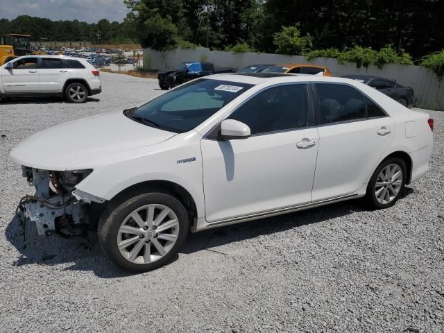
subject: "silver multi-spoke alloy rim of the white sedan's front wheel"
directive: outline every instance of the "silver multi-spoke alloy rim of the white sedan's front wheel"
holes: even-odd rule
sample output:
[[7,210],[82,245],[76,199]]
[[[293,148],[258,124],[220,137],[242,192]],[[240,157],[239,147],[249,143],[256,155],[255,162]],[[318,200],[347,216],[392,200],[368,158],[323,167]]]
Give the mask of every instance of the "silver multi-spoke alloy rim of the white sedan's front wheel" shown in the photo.
[[121,223],[117,246],[133,264],[149,264],[167,255],[178,239],[179,220],[171,208],[151,204],[137,208]]

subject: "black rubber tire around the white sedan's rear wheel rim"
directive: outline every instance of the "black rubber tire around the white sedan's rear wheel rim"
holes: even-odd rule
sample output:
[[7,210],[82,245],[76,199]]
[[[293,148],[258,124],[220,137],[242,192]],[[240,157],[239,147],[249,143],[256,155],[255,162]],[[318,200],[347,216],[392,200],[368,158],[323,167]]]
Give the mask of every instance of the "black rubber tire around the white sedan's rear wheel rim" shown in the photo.
[[[400,185],[398,194],[396,194],[393,199],[391,199],[389,202],[381,203],[379,202],[376,196],[376,191],[377,191],[376,182],[381,171],[391,164],[395,164],[398,165],[398,167],[400,167],[402,171],[402,183]],[[379,166],[376,168],[375,172],[373,173],[373,176],[370,178],[370,182],[368,182],[367,192],[365,196],[368,207],[374,210],[382,210],[384,208],[388,208],[395,205],[396,201],[398,201],[398,199],[400,198],[402,191],[404,191],[404,186],[406,184],[406,181],[407,181],[407,167],[405,165],[404,160],[402,160],[400,157],[389,157],[388,159],[382,161],[381,164],[379,164]],[[387,186],[389,187],[389,185]],[[380,189],[381,187],[382,186],[378,187],[378,189]],[[384,189],[382,191],[384,191]],[[387,187],[386,191],[388,191]],[[390,196],[390,193],[388,194],[388,196]]]

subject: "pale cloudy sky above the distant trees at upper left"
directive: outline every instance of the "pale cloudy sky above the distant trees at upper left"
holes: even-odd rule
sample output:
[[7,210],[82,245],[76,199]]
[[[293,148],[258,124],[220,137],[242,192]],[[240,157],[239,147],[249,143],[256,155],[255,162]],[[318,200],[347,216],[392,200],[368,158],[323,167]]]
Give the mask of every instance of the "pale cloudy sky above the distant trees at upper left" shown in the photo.
[[123,0],[0,0],[0,19],[30,15],[54,21],[78,19],[94,23],[109,19],[122,22],[127,12]]

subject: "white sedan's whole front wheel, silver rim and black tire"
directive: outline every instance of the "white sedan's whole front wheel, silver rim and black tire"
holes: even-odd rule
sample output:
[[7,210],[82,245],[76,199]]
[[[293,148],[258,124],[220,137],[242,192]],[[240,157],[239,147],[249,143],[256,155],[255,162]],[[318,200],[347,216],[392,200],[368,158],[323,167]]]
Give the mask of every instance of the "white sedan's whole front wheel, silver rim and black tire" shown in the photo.
[[[122,202],[123,201],[123,202]],[[165,193],[128,196],[110,204],[99,222],[105,255],[126,271],[144,272],[167,264],[188,233],[188,216],[180,201]]]

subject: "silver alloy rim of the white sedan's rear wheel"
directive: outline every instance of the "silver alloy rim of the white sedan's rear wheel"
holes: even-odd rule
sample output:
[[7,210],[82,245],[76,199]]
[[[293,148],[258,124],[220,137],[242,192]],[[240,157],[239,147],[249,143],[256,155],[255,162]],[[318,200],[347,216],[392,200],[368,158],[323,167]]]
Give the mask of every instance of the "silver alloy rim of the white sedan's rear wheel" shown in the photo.
[[402,187],[402,169],[398,164],[388,164],[381,170],[375,183],[375,197],[378,203],[391,203]]

